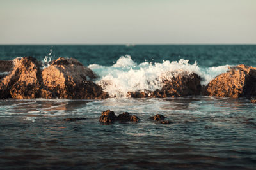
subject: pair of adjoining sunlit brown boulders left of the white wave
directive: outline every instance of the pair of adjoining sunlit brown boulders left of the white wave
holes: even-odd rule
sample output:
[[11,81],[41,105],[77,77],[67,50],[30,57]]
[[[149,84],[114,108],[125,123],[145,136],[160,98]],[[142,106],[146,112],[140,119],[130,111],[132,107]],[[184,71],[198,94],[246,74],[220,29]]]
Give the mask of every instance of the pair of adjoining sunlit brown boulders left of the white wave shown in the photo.
[[[33,57],[19,57],[10,61],[7,76],[0,79],[0,99],[65,98],[105,99],[108,94],[90,79],[92,70],[76,59],[58,58],[44,70],[42,63]],[[1,63],[0,63],[1,64]]]

